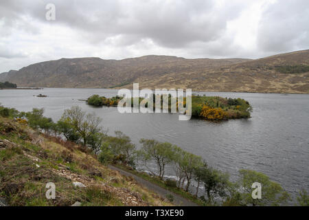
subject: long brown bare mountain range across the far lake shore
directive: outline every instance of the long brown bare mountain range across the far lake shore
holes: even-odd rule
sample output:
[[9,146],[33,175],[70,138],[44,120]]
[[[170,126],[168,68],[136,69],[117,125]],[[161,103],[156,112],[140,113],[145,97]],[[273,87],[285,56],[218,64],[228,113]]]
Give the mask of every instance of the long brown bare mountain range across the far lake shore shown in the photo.
[[19,87],[132,89],[191,88],[194,91],[309,93],[309,50],[260,58],[186,59],[141,56],[124,60],[61,58],[0,74]]

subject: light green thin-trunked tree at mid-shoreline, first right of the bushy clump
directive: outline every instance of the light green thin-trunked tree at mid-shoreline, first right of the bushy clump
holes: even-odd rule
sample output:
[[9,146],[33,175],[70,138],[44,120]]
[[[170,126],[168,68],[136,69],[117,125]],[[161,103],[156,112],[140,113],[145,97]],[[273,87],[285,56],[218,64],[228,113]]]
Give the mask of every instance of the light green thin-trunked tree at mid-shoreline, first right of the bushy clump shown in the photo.
[[139,141],[143,146],[138,151],[139,159],[144,162],[144,165],[148,167],[150,160],[155,161],[157,164],[157,174],[150,172],[154,175],[158,175],[160,179],[163,179],[165,173],[165,166],[172,162],[172,144],[165,142],[157,142],[156,140],[141,139]]

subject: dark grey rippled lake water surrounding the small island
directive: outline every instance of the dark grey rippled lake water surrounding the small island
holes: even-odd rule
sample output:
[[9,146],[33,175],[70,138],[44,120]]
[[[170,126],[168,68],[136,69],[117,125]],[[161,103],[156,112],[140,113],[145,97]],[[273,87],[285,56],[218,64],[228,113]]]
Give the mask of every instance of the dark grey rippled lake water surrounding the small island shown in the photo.
[[[48,97],[34,97],[40,93]],[[171,113],[121,114],[115,107],[93,108],[78,100],[93,94],[111,97],[117,90],[0,90],[0,102],[19,111],[44,107],[45,115],[54,120],[64,109],[79,105],[84,111],[95,111],[109,134],[122,131],[137,146],[140,138],[155,138],[201,155],[209,165],[228,171],[233,180],[239,169],[246,168],[265,173],[294,197],[301,188],[309,190],[309,95],[194,92],[244,98],[253,106],[250,119],[214,123],[179,121]]]

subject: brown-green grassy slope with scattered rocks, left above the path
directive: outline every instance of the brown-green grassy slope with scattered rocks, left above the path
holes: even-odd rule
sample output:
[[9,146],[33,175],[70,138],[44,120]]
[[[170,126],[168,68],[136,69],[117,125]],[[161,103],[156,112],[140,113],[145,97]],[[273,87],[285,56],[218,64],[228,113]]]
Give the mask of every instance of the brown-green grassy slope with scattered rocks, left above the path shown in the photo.
[[[46,184],[56,199],[45,197]],[[76,187],[79,182],[86,187]],[[82,148],[0,117],[0,199],[9,206],[170,206]]]

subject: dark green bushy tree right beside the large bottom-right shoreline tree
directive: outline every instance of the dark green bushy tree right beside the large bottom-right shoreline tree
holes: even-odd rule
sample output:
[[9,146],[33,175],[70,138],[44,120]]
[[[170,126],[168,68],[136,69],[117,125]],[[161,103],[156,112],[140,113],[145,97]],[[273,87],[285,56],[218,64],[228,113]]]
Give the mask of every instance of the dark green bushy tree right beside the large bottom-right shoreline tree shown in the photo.
[[229,186],[229,175],[222,173],[220,170],[214,168],[203,168],[201,173],[201,181],[207,193],[208,202],[213,201],[215,195],[225,196],[227,186]]

